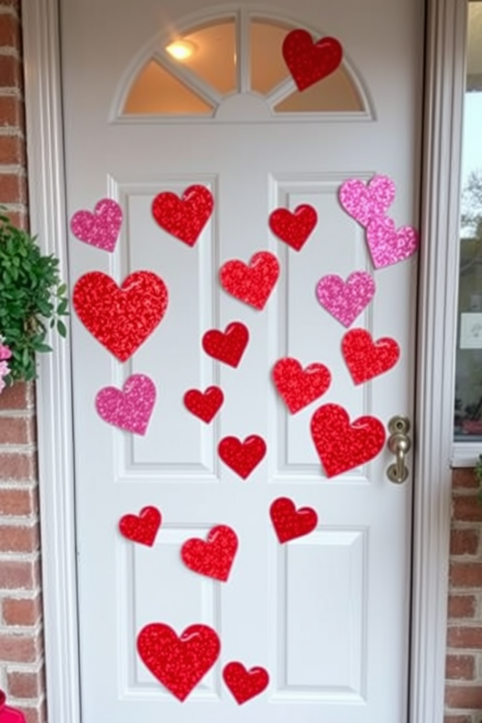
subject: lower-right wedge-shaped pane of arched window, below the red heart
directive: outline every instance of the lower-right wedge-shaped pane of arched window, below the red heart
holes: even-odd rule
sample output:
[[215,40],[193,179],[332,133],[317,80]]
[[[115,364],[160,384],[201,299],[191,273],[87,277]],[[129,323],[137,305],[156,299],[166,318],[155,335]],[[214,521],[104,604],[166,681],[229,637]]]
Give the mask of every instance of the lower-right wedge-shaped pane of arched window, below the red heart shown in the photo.
[[277,113],[330,113],[363,111],[358,88],[345,68],[340,67],[327,78],[296,91],[275,106]]

